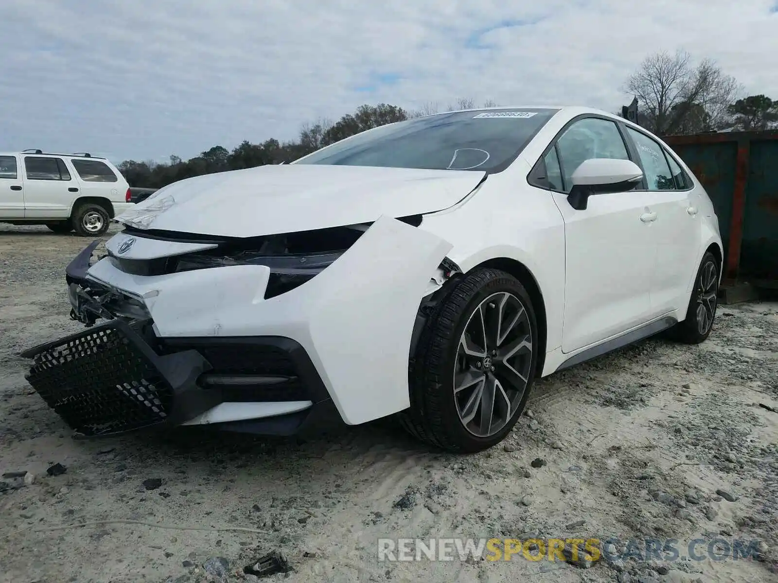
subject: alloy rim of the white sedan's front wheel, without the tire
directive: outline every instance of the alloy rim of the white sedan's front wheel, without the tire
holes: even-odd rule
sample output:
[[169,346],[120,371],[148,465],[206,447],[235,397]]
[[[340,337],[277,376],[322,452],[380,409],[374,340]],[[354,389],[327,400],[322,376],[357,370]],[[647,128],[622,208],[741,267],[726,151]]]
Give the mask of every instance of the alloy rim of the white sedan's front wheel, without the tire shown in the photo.
[[527,390],[532,329],[524,304],[510,292],[485,298],[464,326],[454,362],[454,401],[471,434],[505,427]]

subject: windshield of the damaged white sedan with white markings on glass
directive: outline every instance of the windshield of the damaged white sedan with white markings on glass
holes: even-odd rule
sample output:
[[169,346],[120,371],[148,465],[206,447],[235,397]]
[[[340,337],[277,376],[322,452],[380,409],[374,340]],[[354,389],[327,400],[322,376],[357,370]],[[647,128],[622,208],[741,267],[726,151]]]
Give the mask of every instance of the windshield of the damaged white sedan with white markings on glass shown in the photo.
[[557,111],[476,110],[417,117],[338,141],[295,163],[497,173]]

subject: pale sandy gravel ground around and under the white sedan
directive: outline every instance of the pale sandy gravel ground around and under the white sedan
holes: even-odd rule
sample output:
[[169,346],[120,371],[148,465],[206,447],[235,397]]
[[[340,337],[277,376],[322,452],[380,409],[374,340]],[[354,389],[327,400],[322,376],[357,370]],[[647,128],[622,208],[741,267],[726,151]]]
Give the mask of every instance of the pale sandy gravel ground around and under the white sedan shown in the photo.
[[[506,441],[474,456],[391,421],[307,441],[75,441],[18,353],[81,329],[63,274],[88,242],[0,225],[0,472],[26,473],[0,481],[0,581],[258,581],[244,566],[273,550],[292,571],[269,580],[778,578],[778,303],[722,306],[696,347],[654,338],[541,380]],[[97,521],[135,522],[54,529]],[[380,538],[433,536],[759,543],[747,560],[377,560]]]

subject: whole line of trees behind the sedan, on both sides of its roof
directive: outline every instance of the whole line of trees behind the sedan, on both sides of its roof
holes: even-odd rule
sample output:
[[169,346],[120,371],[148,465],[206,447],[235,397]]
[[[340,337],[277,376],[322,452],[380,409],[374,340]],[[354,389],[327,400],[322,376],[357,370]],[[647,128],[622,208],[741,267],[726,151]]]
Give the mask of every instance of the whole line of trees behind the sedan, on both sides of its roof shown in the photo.
[[[764,130],[778,125],[778,101],[764,95],[742,96],[742,86],[716,61],[695,63],[684,51],[650,55],[629,75],[622,90],[637,99],[638,123],[658,135]],[[473,99],[460,98],[447,110],[474,106]],[[483,106],[496,103],[490,99]],[[293,162],[361,131],[439,112],[439,104],[433,102],[412,111],[387,103],[363,105],[335,122],[323,119],[303,125],[295,141],[270,138],[253,144],[244,140],[231,151],[216,145],[186,161],[176,155],[166,163],[124,160],[119,170],[131,187],[161,188],[191,176]]]

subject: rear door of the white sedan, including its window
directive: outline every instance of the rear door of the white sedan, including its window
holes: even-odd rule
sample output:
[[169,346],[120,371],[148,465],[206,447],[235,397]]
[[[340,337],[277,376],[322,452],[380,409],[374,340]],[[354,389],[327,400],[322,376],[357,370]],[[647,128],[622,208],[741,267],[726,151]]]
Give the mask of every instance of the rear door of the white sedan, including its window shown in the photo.
[[692,181],[662,145],[648,134],[628,127],[647,190],[657,213],[657,259],[651,273],[651,312],[661,316],[689,302],[687,288],[697,272],[702,244],[699,194]]

